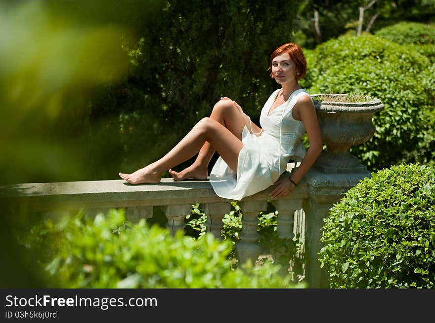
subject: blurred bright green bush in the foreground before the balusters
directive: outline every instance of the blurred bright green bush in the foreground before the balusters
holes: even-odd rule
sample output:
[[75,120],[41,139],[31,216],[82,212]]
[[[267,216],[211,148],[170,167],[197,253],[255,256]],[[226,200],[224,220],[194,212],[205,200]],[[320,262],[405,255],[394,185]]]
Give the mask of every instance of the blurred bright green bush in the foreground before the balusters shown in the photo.
[[122,210],[91,219],[83,214],[40,222],[26,238],[54,288],[292,288],[280,266],[232,268],[232,244],[211,233],[173,236],[145,220],[126,221]]

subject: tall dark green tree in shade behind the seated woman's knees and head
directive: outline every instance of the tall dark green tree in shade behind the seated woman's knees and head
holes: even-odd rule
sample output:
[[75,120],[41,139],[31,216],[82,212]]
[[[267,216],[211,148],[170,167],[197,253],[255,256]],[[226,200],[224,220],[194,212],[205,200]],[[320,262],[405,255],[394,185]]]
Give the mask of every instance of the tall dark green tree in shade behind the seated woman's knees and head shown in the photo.
[[168,1],[138,32],[138,41],[126,44],[129,77],[93,103],[94,120],[120,116],[123,170],[160,158],[221,96],[258,122],[276,87],[267,72],[269,57],[292,40],[296,2]]

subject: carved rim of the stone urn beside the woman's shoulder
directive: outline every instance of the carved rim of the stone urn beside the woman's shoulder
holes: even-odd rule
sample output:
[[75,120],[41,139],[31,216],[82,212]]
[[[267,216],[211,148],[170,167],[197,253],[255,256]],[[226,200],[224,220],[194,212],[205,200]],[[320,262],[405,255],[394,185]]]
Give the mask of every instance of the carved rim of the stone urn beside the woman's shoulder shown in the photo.
[[[311,94],[310,97],[316,96],[349,96],[349,94],[341,93],[317,93]],[[316,110],[321,112],[340,112],[340,113],[375,113],[384,109],[384,105],[378,98],[366,96],[370,101],[364,102],[339,102],[339,101],[313,101]]]

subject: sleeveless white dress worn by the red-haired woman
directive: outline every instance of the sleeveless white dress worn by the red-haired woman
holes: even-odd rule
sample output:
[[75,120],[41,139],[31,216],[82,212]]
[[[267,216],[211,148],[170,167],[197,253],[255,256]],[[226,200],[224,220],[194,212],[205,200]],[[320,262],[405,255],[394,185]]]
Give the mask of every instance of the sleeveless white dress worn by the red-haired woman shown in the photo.
[[251,134],[245,126],[243,148],[237,162],[237,174],[219,156],[210,173],[210,182],[220,197],[240,201],[272,185],[287,168],[289,159],[301,161],[305,147],[301,141],[304,124],[295,120],[292,110],[296,102],[309,95],[299,89],[282,105],[269,113],[280,89],[274,91],[261,109],[261,136]]

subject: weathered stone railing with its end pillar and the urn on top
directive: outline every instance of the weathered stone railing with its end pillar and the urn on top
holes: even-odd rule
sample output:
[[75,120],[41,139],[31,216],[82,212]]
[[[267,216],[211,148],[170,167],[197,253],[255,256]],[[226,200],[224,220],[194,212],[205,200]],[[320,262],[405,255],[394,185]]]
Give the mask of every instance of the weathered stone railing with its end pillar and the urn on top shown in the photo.
[[[352,102],[344,94],[312,97],[315,96],[321,98],[321,101],[314,100],[314,106],[326,150],[298,187],[286,197],[269,200],[272,188],[268,188],[238,202],[243,216],[240,240],[236,243],[239,261],[251,259],[255,262],[258,259],[261,252],[257,231],[259,214],[267,211],[267,203],[272,203],[278,211],[279,237],[293,239],[298,231],[304,237],[304,276],[311,288],[329,286],[326,272],[318,261],[324,218],[344,193],[361,179],[371,176],[349,149],[372,138],[375,131],[372,116],[384,108],[376,98]],[[289,167],[283,176],[289,176],[291,169]],[[219,198],[207,180],[176,182],[162,179],[159,184],[134,186],[123,180],[33,183],[10,185],[2,191],[12,193],[21,211],[43,212],[48,216],[68,210],[86,209],[95,214],[110,208],[125,208],[127,217],[134,221],[152,217],[153,210],[158,207],[173,232],[184,228],[184,219],[191,213],[192,204],[200,203],[207,214],[207,229],[217,237],[220,237],[222,217],[231,209],[231,201]],[[294,225],[295,214],[298,222],[302,215],[304,227]]]

